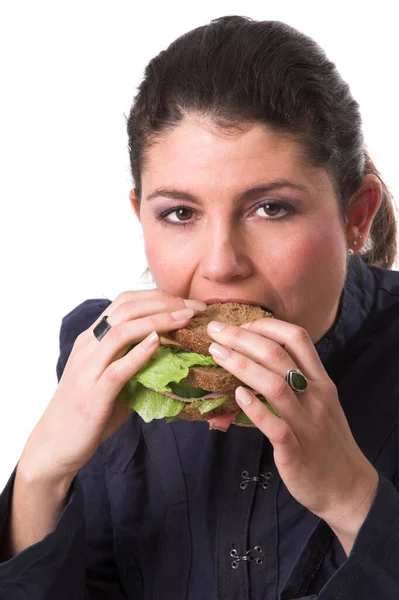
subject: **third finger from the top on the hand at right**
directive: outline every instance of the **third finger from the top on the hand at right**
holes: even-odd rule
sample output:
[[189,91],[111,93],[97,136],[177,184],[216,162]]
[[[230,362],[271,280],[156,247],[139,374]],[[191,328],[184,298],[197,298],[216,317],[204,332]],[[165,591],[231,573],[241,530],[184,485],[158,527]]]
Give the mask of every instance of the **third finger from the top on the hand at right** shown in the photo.
[[[219,354],[220,350],[225,352],[224,358]],[[218,365],[260,392],[288,424],[302,423],[305,409],[283,377],[226,346],[211,344],[209,351]]]

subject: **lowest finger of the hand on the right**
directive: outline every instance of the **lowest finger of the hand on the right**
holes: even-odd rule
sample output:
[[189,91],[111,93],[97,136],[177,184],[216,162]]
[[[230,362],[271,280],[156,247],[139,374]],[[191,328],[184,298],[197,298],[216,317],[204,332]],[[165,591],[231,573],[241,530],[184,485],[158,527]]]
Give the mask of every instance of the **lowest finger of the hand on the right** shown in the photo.
[[[259,398],[244,387],[236,389],[236,402],[252,423],[269,438],[275,450],[279,447],[280,464],[288,463],[292,452],[297,452],[299,441],[290,425],[268,409]],[[276,458],[276,457],[275,457]]]

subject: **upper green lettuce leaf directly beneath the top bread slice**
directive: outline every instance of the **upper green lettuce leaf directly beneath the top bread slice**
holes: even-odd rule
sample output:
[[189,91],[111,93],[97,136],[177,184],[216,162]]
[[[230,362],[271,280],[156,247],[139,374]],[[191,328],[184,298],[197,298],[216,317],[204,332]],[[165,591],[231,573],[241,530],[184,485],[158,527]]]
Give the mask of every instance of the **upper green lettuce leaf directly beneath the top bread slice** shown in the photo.
[[157,392],[171,392],[169,383],[179,383],[187,377],[190,367],[217,367],[211,356],[160,347],[131,380]]

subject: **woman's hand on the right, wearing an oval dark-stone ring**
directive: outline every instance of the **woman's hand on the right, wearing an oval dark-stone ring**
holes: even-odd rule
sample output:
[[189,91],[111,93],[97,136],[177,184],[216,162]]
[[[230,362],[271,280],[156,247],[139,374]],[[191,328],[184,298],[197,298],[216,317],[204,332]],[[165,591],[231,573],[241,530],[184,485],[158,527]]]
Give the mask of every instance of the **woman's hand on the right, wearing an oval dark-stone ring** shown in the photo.
[[[378,473],[356,444],[308,333],[270,318],[241,327],[218,325],[220,331],[208,325],[209,335],[222,345],[209,349],[215,362],[262,394],[279,414],[246,388],[237,388],[237,403],[269,438],[291,495],[332,528],[345,528],[348,519],[360,527],[375,497]],[[308,380],[301,394],[285,380],[290,369],[299,369]]]

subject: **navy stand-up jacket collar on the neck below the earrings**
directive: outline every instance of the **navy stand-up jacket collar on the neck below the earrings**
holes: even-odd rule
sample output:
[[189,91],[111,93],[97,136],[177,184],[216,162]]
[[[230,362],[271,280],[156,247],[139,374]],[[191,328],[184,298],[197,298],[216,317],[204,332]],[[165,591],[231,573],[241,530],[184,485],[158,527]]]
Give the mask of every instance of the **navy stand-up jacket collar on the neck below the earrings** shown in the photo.
[[371,270],[359,255],[353,256],[349,261],[335,325],[315,346],[323,363],[342,350],[361,329],[373,305],[374,293],[375,281]]

